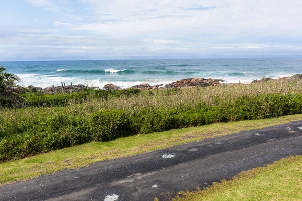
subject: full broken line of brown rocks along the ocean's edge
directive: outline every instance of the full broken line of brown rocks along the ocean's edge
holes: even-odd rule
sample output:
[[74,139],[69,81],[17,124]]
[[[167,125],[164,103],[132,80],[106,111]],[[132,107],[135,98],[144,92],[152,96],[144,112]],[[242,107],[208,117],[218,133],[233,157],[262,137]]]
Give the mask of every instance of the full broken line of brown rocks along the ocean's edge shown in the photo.
[[[279,79],[272,79],[272,78],[262,78],[260,80],[253,80],[252,83],[261,83],[261,82],[267,82],[267,81],[275,81],[275,80],[302,80],[302,74],[296,74],[291,77],[282,77]],[[225,80],[222,79],[205,79],[205,78],[187,78],[187,79],[181,79],[176,82],[172,82],[169,84],[166,84],[165,86],[163,84],[159,85],[150,85],[148,83],[142,83],[139,85],[132,86],[130,88],[133,89],[140,89],[140,90],[152,90],[152,89],[159,89],[159,88],[194,88],[194,87],[208,87],[208,86],[221,86],[226,84]],[[237,85],[238,83],[229,83],[230,85]],[[65,85],[62,84],[62,86],[50,86],[46,88],[41,88],[37,86],[28,86],[28,89],[34,90],[34,91],[40,91],[45,94],[53,94],[56,92],[63,92],[63,93],[70,93],[75,91],[81,91],[85,89],[99,89],[99,87],[88,87],[82,84],[77,85]],[[122,88],[116,85],[113,85],[111,83],[106,84],[103,87],[104,90],[121,90]]]

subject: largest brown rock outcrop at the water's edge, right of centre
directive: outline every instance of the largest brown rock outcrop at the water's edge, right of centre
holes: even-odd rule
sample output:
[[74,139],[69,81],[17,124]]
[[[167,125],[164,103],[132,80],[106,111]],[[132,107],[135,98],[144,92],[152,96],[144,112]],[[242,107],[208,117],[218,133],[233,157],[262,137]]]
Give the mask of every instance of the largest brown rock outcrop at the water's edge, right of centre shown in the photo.
[[224,82],[222,79],[204,79],[204,78],[188,78],[181,79],[176,82],[172,82],[171,84],[166,84],[168,88],[176,88],[176,87],[196,87],[196,86],[218,86],[220,82]]

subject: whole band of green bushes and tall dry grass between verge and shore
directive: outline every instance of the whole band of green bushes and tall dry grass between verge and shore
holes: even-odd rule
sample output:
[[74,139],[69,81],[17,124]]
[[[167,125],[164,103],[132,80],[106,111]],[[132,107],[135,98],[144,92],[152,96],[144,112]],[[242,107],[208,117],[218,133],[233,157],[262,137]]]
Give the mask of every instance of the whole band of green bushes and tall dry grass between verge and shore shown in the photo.
[[278,80],[191,89],[24,93],[24,108],[0,110],[0,160],[90,141],[299,114],[301,92],[302,81]]

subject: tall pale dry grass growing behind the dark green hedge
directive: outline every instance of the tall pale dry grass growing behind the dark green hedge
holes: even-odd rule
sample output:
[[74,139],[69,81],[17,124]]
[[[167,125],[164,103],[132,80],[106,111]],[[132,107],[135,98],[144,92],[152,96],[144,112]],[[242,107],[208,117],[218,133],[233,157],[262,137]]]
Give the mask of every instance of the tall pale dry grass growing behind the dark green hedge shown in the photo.
[[79,106],[69,105],[71,111],[81,111],[89,114],[101,109],[122,109],[128,112],[140,111],[148,108],[194,109],[204,103],[206,106],[217,106],[222,103],[231,103],[242,96],[260,94],[292,94],[302,93],[302,81],[272,81],[257,84],[240,84],[234,86],[199,87],[192,89],[162,89],[145,92],[131,97],[110,98],[99,101],[88,98],[87,102]]

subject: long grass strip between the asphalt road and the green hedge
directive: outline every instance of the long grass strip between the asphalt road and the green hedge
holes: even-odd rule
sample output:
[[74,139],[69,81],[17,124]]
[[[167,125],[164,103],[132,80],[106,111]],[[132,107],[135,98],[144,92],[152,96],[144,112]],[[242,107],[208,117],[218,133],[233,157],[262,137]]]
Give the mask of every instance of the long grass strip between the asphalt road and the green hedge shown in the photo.
[[64,169],[80,168],[103,160],[134,156],[178,144],[201,141],[205,138],[228,135],[244,130],[260,129],[297,120],[302,120],[302,114],[139,134],[109,142],[90,142],[2,163],[0,164],[0,185],[19,180],[28,180]]

